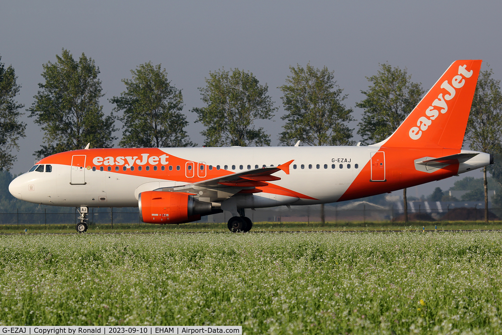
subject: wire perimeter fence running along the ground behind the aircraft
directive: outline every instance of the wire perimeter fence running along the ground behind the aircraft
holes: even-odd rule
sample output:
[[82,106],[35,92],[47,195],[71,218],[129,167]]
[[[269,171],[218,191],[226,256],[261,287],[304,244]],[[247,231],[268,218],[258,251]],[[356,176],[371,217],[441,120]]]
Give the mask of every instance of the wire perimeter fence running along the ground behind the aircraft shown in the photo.
[[[73,208],[72,208],[73,209]],[[502,208],[489,208],[489,220],[500,220]],[[0,225],[61,225],[76,224],[79,212],[75,209],[68,212],[51,212],[44,210],[37,212],[0,213]],[[308,224],[320,222],[320,206],[281,206],[275,208],[246,209],[245,215],[254,222],[306,222]],[[142,224],[138,208],[89,208],[88,225],[113,224]],[[202,216],[198,222],[226,222],[231,217],[227,212]],[[326,222],[399,222],[404,221],[404,212],[389,206],[387,208],[340,209],[336,206],[325,206],[324,218]],[[484,208],[444,208],[438,209],[408,209],[408,220],[413,221],[482,221]]]

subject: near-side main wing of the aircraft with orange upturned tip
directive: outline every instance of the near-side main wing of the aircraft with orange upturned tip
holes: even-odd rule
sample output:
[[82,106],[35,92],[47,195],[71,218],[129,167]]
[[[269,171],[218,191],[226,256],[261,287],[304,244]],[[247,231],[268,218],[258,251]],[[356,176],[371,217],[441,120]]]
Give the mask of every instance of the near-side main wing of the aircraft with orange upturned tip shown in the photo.
[[224,200],[235,193],[259,193],[262,190],[257,187],[267,186],[267,181],[281,180],[280,177],[273,176],[273,173],[282,170],[289,174],[289,166],[293,161],[291,160],[279,166],[232,173],[182,186],[161,187],[155,191],[188,192],[199,195],[199,200],[210,202]]

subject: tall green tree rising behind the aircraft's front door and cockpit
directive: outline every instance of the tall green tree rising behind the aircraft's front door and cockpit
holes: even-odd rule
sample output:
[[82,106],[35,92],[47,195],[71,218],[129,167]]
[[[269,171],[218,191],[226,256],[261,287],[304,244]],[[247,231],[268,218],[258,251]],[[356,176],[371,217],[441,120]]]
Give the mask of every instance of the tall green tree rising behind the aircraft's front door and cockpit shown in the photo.
[[45,144],[34,155],[40,158],[83,149],[89,142],[94,148],[111,148],[116,139],[112,136],[115,118],[105,116],[99,104],[104,96],[99,68],[84,53],[75,61],[66,49],[56,59],[43,65],[45,83],[38,84],[41,90],[28,109],[44,131]]

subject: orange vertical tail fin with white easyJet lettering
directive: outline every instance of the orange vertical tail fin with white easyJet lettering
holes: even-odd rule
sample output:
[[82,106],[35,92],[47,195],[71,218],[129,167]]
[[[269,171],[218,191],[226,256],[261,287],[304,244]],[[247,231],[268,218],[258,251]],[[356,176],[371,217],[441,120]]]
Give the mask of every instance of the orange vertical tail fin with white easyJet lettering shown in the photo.
[[432,86],[386,147],[461,149],[481,60],[457,60]]

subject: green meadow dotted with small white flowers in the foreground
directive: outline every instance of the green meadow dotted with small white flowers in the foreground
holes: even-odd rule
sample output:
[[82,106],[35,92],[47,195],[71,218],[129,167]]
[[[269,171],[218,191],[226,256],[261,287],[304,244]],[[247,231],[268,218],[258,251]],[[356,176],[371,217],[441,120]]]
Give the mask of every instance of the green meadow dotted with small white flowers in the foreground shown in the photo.
[[4,325],[502,333],[502,234],[0,236]]

